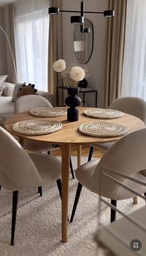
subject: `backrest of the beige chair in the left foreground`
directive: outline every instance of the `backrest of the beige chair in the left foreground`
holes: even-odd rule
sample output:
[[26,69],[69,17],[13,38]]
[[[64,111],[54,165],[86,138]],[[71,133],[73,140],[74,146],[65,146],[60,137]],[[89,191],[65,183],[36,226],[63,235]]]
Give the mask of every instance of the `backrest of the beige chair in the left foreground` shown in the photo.
[[40,175],[24,148],[0,127],[0,184],[17,191],[39,186]]

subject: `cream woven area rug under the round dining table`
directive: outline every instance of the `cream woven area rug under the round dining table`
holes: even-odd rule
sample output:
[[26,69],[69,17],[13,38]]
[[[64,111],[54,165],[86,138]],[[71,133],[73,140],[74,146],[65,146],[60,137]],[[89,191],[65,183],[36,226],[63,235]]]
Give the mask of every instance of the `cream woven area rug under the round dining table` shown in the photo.
[[[82,163],[87,158],[82,158]],[[74,168],[77,159],[72,157]],[[74,203],[77,180],[69,181],[69,218]],[[129,213],[144,206],[139,199],[134,205],[132,199],[118,202],[118,208]],[[4,188],[0,192],[0,255],[1,256],[90,256],[95,255],[93,233],[97,230],[98,196],[82,190],[74,221],[68,224],[68,242],[61,242],[61,199],[56,183],[43,187],[43,196],[37,193],[37,188],[20,192],[15,230],[15,244],[11,239],[11,209],[12,193]],[[109,207],[102,206],[101,221],[109,223]],[[118,216],[119,217],[119,216]]]

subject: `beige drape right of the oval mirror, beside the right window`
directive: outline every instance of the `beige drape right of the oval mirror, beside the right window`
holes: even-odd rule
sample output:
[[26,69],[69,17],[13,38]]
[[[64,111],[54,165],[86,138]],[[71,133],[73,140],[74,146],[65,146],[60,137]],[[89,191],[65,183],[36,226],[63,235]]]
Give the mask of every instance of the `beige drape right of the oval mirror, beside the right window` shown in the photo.
[[113,100],[121,96],[126,5],[127,0],[109,0],[109,9],[115,11],[115,16],[108,18],[108,31],[105,40],[102,85],[103,108],[107,108]]

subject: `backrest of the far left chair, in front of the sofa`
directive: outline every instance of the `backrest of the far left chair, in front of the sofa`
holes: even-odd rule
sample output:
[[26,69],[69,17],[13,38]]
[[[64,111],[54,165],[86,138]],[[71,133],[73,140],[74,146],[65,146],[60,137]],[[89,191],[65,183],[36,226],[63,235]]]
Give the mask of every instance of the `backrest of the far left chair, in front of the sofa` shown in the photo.
[[51,103],[40,95],[25,95],[17,98],[14,105],[14,113],[28,111],[33,108],[51,108]]

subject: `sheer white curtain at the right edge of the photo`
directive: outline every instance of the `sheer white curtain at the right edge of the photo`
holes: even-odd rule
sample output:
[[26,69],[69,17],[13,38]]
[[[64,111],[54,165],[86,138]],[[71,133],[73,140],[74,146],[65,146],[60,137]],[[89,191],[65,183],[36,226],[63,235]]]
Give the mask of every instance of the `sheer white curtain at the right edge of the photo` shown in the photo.
[[121,96],[146,100],[146,0],[128,0]]

